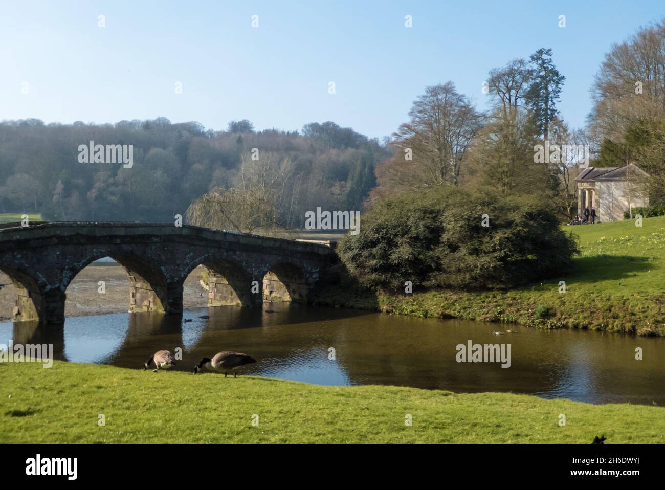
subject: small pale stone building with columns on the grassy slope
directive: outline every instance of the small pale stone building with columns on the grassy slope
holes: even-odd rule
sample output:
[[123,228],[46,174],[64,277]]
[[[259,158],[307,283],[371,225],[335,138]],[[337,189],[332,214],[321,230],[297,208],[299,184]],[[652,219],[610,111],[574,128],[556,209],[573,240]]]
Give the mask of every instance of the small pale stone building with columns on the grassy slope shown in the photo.
[[648,174],[635,164],[623,167],[589,167],[575,178],[577,212],[596,208],[596,222],[624,219],[630,207],[647,206],[645,181]]

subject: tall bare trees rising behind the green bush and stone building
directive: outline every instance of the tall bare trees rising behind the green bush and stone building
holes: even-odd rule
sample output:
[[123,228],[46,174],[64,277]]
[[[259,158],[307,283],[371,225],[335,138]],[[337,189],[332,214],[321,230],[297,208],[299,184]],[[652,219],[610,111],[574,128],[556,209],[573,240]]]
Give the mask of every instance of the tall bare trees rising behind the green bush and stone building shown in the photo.
[[569,128],[559,114],[565,76],[551,49],[489,70],[487,111],[452,82],[427,87],[393,134],[392,157],[377,167],[370,201],[452,185],[537,195],[569,220],[577,213],[575,177],[583,168],[634,163],[650,177],[631,182],[631,193],[665,203],[663,53],[665,21],[612,45],[595,75],[583,128]]

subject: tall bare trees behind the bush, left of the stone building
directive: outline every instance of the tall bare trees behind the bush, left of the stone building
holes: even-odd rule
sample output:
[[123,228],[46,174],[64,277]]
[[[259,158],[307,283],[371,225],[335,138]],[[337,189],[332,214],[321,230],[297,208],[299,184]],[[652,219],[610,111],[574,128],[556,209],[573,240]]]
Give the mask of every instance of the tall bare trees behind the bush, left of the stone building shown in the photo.
[[585,162],[577,152],[541,158],[535,151],[538,145],[587,144],[583,131],[571,130],[557,110],[564,82],[551,49],[543,48],[489,70],[487,111],[453,82],[426,87],[393,134],[392,158],[377,167],[370,201],[450,185],[504,197],[539,195],[561,217],[571,216],[574,178]]

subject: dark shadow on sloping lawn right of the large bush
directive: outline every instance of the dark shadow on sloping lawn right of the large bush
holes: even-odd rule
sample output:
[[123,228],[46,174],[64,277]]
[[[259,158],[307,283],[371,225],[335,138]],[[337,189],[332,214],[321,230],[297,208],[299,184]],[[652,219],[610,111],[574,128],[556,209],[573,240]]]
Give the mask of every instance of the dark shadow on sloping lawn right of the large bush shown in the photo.
[[567,277],[583,279],[586,283],[597,283],[608,279],[624,279],[638,273],[655,269],[646,257],[632,255],[595,255],[573,259]]

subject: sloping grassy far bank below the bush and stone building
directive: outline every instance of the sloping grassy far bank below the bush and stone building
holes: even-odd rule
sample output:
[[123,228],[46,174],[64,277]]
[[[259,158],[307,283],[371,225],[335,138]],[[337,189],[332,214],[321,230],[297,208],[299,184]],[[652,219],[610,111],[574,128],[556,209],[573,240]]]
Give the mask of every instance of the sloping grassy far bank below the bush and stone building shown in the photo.
[[[426,291],[372,295],[341,284],[319,288],[316,303],[384,312],[517,322],[545,328],[589,328],[665,336],[665,217],[565,226],[579,236],[570,269],[510,291]],[[565,293],[559,293],[565,281]],[[536,310],[547,314],[536,318]]]

